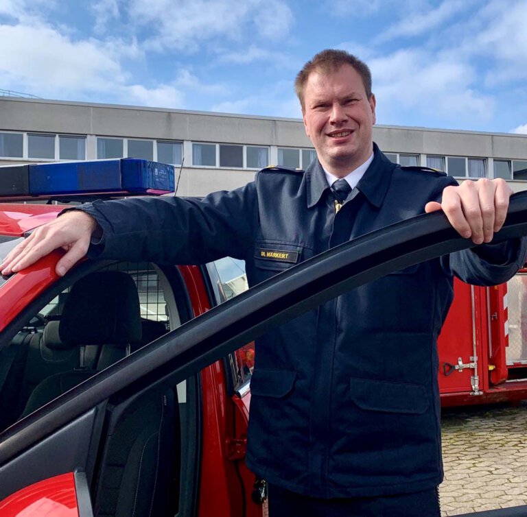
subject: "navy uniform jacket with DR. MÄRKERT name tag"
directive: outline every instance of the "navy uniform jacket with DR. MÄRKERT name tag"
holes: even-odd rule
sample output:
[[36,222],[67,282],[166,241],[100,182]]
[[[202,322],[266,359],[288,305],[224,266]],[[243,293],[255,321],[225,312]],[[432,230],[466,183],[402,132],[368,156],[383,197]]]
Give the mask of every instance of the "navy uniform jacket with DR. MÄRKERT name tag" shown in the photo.
[[[255,182],[203,200],[95,202],[101,258],[246,261],[250,285],[294,263],[423,213],[455,184],[443,173],[375,157],[335,214],[317,160],[305,173],[264,169]],[[488,248],[488,247],[487,247]],[[257,342],[246,462],[264,479],[319,497],[432,488],[443,477],[436,339],[452,272],[491,285],[523,263],[524,241],[491,265],[473,251],[408,267],[297,317]],[[483,250],[484,251],[484,250]],[[501,253],[501,252],[500,252]]]

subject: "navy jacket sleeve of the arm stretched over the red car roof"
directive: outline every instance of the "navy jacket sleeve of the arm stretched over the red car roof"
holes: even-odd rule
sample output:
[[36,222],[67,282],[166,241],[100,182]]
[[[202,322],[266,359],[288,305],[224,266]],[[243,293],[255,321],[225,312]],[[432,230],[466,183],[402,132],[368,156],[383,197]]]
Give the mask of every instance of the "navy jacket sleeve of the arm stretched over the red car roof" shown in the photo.
[[254,183],[203,199],[132,197],[75,209],[89,213],[102,228],[102,238],[89,250],[91,258],[158,263],[244,259],[258,218]]

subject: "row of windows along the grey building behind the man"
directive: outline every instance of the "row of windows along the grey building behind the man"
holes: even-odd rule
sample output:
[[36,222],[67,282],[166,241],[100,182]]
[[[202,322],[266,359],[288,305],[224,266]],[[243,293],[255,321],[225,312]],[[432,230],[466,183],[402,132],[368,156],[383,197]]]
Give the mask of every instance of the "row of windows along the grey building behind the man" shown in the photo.
[[[27,136],[27,140],[24,140]],[[97,159],[143,158],[162,163],[181,165],[183,143],[176,141],[117,139],[96,137]],[[27,147],[25,151],[24,147]],[[270,163],[270,148],[257,145],[192,143],[194,167],[226,167],[229,169],[262,169]],[[305,169],[315,158],[314,149],[278,147],[278,165],[290,169]],[[486,178],[485,158],[463,156],[425,156],[419,154],[386,153],[394,163],[405,166],[425,165],[445,171],[458,178]],[[0,158],[28,158],[34,160],[85,160],[86,136],[40,133],[0,132]],[[506,180],[527,180],[527,160],[493,160],[493,177]]]

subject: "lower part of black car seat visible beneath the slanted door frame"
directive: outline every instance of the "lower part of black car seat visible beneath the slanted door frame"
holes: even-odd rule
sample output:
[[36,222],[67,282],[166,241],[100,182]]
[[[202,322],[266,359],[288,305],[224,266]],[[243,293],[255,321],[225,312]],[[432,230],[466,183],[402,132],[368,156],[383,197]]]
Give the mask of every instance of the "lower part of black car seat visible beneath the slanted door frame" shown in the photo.
[[113,409],[95,494],[96,517],[177,513],[177,411],[172,389],[146,392]]

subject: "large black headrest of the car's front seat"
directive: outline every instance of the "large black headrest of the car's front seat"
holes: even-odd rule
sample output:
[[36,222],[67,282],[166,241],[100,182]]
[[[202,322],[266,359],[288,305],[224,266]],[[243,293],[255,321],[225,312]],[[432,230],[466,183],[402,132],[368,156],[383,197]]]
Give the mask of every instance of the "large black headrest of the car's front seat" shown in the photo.
[[141,311],[134,280],[124,272],[91,273],[69,292],[59,326],[70,345],[123,345],[141,341]]

